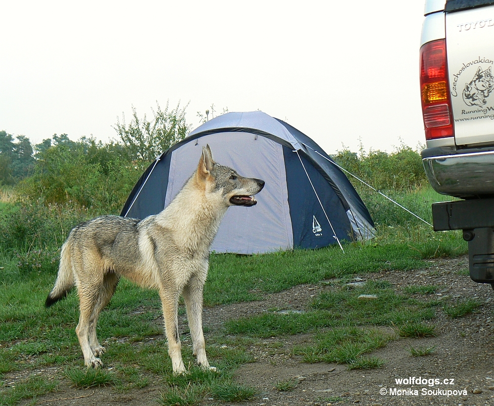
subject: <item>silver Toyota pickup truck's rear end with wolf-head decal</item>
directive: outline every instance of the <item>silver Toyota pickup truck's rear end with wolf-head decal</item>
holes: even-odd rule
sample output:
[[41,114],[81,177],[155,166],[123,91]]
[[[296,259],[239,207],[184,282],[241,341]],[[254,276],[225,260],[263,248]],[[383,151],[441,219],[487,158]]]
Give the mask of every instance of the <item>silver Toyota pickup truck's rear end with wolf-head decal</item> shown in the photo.
[[494,289],[494,0],[426,0],[420,47],[435,231],[463,230],[470,277]]

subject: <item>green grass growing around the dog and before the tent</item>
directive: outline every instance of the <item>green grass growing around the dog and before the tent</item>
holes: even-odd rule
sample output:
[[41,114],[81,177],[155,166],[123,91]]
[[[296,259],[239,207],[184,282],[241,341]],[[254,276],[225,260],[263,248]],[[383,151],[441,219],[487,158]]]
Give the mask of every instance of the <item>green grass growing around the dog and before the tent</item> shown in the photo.
[[[400,203],[427,221],[431,220],[430,203],[442,200],[430,189],[396,193],[393,198],[401,200]],[[150,379],[160,377],[165,381],[158,400],[162,405],[193,405],[206,393],[217,401],[236,402],[255,394],[253,388],[238,385],[233,380],[233,372],[239,365],[253,361],[243,348],[243,340],[300,332],[310,333],[312,337],[309,345],[294,349],[305,362],[379,367],[384,361],[368,357],[367,353],[399,334],[434,334],[434,326],[429,321],[437,312],[444,311],[452,318],[461,317],[474,311],[477,304],[465,302],[448,306],[441,303],[444,306],[441,307],[437,302],[426,300],[435,292],[434,285],[409,286],[399,294],[386,284],[346,289],[345,281],[354,274],[416,269],[428,266],[426,259],[466,252],[466,243],[459,233],[434,233],[391,203],[376,197],[369,199],[370,203],[366,203],[378,234],[370,242],[345,244],[344,252],[331,246],[251,256],[211,255],[205,286],[206,306],[253,301],[265,293],[280,292],[298,284],[335,281],[334,289],[314,298],[310,311],[304,314],[267,314],[227,322],[219,336],[208,337],[209,357],[221,371],[216,374],[193,369],[186,377],[172,375],[165,342],[161,335],[157,338],[163,331],[156,322],[161,313],[157,292],[124,280],[98,324],[100,341],[111,344],[104,362],[113,369],[86,371],[74,331],[79,314],[77,295],[71,293],[67,300],[44,308],[44,300],[56,276],[56,261],[49,259],[51,257],[46,259],[41,248],[36,256],[34,249],[15,251],[2,247],[0,380],[14,371],[29,372],[56,365],[65,371],[60,379],[69,379],[78,387],[104,384],[125,392],[145,387]],[[0,212],[10,208],[11,203],[0,203]],[[358,298],[361,294],[377,295],[379,299],[361,301]],[[417,294],[423,298],[412,298]],[[376,326],[395,326],[397,331],[389,335]],[[216,345],[216,342],[224,342],[227,334],[242,338],[235,348]],[[182,338],[187,338],[187,331]],[[432,350],[414,351],[422,354]],[[190,350],[184,350],[184,357],[186,364],[192,363]],[[280,383],[279,390],[289,386],[290,382]],[[56,388],[56,381],[46,381],[40,376],[29,377],[15,387],[0,385],[0,405],[17,405],[22,399],[35,399]]]

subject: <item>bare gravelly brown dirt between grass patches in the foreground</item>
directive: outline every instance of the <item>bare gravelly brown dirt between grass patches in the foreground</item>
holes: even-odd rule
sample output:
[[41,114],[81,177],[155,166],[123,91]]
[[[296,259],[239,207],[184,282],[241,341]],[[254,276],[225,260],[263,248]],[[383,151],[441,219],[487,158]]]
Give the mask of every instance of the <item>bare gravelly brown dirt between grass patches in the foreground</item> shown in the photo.
[[[260,340],[258,345],[246,348],[256,362],[243,365],[236,372],[237,381],[255,387],[259,395],[240,404],[494,405],[494,292],[490,285],[476,284],[468,276],[459,274],[459,271],[468,268],[467,257],[435,260],[431,261],[431,265],[421,270],[388,271],[358,277],[364,281],[389,281],[396,289],[402,285],[436,284],[440,286],[435,294],[437,298],[479,300],[482,305],[476,313],[455,320],[439,315],[433,321],[439,332],[437,337],[390,341],[384,348],[372,353],[387,363],[371,370],[348,370],[346,365],[302,363],[299,357],[292,355],[292,348],[308,342],[309,335],[306,334]],[[267,294],[262,301],[206,308],[206,340],[208,334],[219,332],[223,322],[232,318],[260,314],[273,308],[305,310],[312,297],[327,288],[324,284],[300,285],[288,291]],[[277,345],[271,346],[270,343],[274,342]],[[412,357],[407,351],[410,346],[435,346],[435,352],[429,356]],[[60,381],[58,390],[38,398],[36,405],[157,406],[156,399],[163,390],[163,382],[159,381],[124,394],[111,387],[80,390],[73,388],[56,368],[34,373]],[[22,373],[16,372],[7,376],[6,381],[15,382],[22,377]],[[440,384],[397,385],[395,382],[397,378],[409,377],[420,377],[421,380],[427,379],[427,382],[429,379],[439,379]],[[293,390],[279,392],[275,389],[277,382],[289,379],[298,382]],[[444,383],[446,379],[450,384]],[[448,390],[451,391],[449,396]],[[216,402],[207,398],[201,403],[213,404]]]

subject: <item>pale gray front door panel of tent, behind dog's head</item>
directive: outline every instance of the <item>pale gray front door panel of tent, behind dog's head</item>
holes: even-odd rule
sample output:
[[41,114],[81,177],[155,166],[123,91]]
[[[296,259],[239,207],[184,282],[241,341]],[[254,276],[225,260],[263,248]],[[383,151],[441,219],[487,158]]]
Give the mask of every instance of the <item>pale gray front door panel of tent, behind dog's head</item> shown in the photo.
[[256,196],[257,205],[228,209],[211,249],[252,254],[292,248],[293,232],[282,145],[266,137],[242,132],[214,133],[196,141],[183,144],[172,152],[165,206],[194,173],[202,147],[209,144],[216,162],[234,168],[242,176],[266,182]]

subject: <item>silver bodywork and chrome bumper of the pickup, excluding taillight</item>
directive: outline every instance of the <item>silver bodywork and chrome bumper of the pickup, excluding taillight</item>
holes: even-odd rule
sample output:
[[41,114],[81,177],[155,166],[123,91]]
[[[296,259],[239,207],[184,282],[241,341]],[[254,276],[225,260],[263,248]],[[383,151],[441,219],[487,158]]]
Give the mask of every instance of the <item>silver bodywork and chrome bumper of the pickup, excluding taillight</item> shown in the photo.
[[454,122],[453,137],[427,140],[422,161],[437,192],[461,198],[494,196],[494,5],[471,3],[427,1],[421,36],[421,46],[446,38]]

